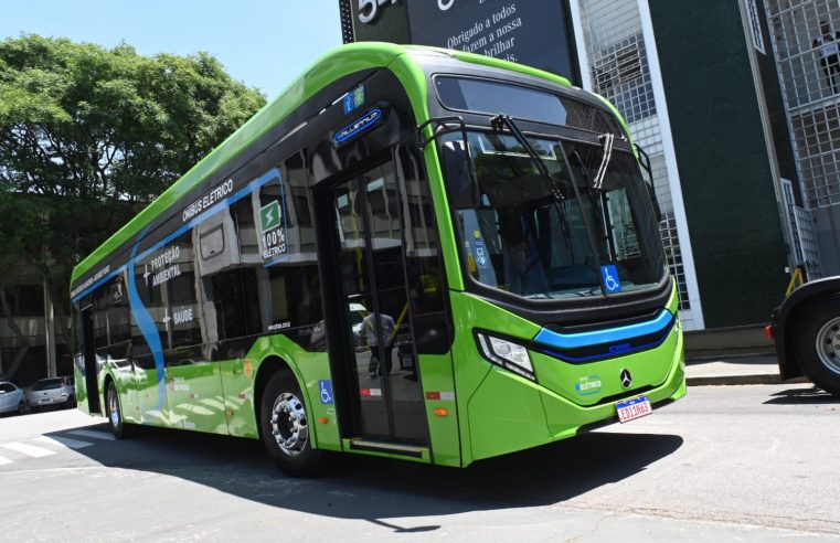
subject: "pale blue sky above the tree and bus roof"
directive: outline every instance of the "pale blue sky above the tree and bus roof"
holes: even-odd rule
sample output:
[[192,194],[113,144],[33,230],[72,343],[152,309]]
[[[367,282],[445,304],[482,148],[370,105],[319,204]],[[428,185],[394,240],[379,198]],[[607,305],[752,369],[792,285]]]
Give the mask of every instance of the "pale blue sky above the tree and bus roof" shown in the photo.
[[6,0],[0,40],[68,38],[138,53],[206,51],[268,99],[341,45],[339,0]]

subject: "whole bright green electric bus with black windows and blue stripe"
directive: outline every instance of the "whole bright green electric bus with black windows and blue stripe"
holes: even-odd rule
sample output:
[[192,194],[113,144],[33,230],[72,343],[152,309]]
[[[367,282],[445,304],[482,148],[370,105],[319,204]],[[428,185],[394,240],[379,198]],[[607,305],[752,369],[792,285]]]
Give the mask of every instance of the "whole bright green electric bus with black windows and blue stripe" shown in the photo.
[[640,151],[562,77],[320,58],[74,270],[79,407],[466,467],[685,394]]

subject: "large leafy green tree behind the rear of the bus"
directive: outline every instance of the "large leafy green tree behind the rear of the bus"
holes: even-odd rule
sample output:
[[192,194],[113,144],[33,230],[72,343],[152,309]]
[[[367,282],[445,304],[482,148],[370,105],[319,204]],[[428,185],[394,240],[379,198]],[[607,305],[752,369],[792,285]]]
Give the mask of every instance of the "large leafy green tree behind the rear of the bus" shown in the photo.
[[30,263],[68,342],[73,267],[264,104],[206,53],[0,42],[0,296]]

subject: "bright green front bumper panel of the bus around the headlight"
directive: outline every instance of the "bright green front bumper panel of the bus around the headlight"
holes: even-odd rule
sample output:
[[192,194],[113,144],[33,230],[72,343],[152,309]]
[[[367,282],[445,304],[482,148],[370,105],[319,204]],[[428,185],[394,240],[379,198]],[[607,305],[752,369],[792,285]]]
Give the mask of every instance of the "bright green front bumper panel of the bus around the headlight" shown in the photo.
[[[680,390],[684,394],[679,326],[674,326],[668,339],[656,349],[587,364],[568,364],[529,351],[539,381],[533,383],[486,361],[478,351],[472,330],[498,331],[528,343],[540,327],[468,294],[451,292],[450,300],[454,315],[459,316],[455,319],[453,356],[457,361],[459,413],[467,414],[461,417],[460,428],[464,466],[480,458],[571,437],[581,426],[615,417],[614,403],[593,405],[612,395],[631,395],[620,387],[618,379],[625,368],[632,373],[637,386],[653,387],[645,392],[651,402],[676,398]],[[673,289],[668,309],[676,312],[677,304]],[[600,391],[578,396],[574,392],[575,383],[598,372],[604,383]]]

